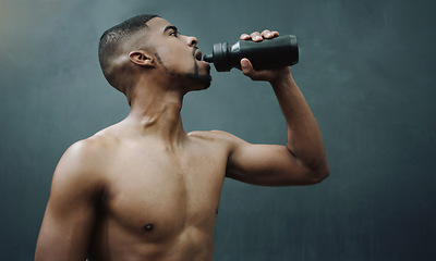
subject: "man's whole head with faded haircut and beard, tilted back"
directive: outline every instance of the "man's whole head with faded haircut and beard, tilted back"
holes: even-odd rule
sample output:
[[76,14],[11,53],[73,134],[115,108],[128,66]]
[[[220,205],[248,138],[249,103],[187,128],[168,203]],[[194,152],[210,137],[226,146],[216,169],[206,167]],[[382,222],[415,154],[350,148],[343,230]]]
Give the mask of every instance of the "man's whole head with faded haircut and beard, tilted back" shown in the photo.
[[150,70],[174,83],[207,88],[209,66],[199,61],[196,44],[195,37],[180,35],[158,15],[143,14],[106,30],[98,54],[105,77],[124,95],[135,85],[135,76],[149,74]]

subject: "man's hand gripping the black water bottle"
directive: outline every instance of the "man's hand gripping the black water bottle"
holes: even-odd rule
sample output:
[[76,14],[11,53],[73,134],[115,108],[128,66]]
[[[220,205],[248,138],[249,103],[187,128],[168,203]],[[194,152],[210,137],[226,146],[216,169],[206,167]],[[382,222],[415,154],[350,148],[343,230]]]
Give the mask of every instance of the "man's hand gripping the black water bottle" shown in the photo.
[[[258,42],[263,41],[264,39],[272,39],[277,36],[279,36],[279,33],[277,30],[271,32],[269,29],[265,29],[262,32],[262,34],[258,32],[254,32],[250,35],[242,34],[240,36],[240,39]],[[289,66],[281,69],[256,71],[253,69],[252,63],[246,58],[241,59],[241,70],[244,75],[249,76],[253,80],[266,80],[271,84],[275,84],[283,78],[291,76]]]

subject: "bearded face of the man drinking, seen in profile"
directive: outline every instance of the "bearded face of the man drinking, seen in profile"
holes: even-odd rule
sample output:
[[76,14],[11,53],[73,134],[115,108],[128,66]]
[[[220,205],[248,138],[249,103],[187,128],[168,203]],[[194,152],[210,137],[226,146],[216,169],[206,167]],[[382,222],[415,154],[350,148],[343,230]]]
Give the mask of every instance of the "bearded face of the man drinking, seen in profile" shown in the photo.
[[210,86],[210,66],[201,61],[195,37],[179,34],[173,25],[160,17],[152,18],[147,25],[147,38],[155,49],[157,65],[169,77],[189,85],[190,90]]

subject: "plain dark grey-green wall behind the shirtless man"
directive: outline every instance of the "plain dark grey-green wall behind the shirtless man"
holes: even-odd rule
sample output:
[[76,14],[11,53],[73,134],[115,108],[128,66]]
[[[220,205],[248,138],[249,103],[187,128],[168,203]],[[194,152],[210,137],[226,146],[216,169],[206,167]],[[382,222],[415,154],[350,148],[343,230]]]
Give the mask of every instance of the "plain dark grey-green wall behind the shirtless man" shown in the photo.
[[[140,13],[197,36],[204,52],[255,29],[299,38],[292,71],[331,175],[308,187],[227,181],[216,260],[436,260],[433,2],[1,0],[0,260],[32,260],[63,151],[126,115],[100,73],[97,42]],[[267,84],[238,71],[213,77],[209,90],[185,98],[186,130],[286,141]]]

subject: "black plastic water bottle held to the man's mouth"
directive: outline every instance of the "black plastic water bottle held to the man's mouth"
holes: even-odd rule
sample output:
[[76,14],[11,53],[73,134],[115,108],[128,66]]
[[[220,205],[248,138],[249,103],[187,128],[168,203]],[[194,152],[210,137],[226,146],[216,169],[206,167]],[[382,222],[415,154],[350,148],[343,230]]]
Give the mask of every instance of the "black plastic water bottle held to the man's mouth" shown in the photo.
[[255,70],[294,65],[299,62],[299,47],[293,35],[279,36],[263,41],[239,40],[233,46],[228,42],[215,44],[213,53],[204,57],[218,72],[229,72],[241,67],[241,59],[247,58]]

